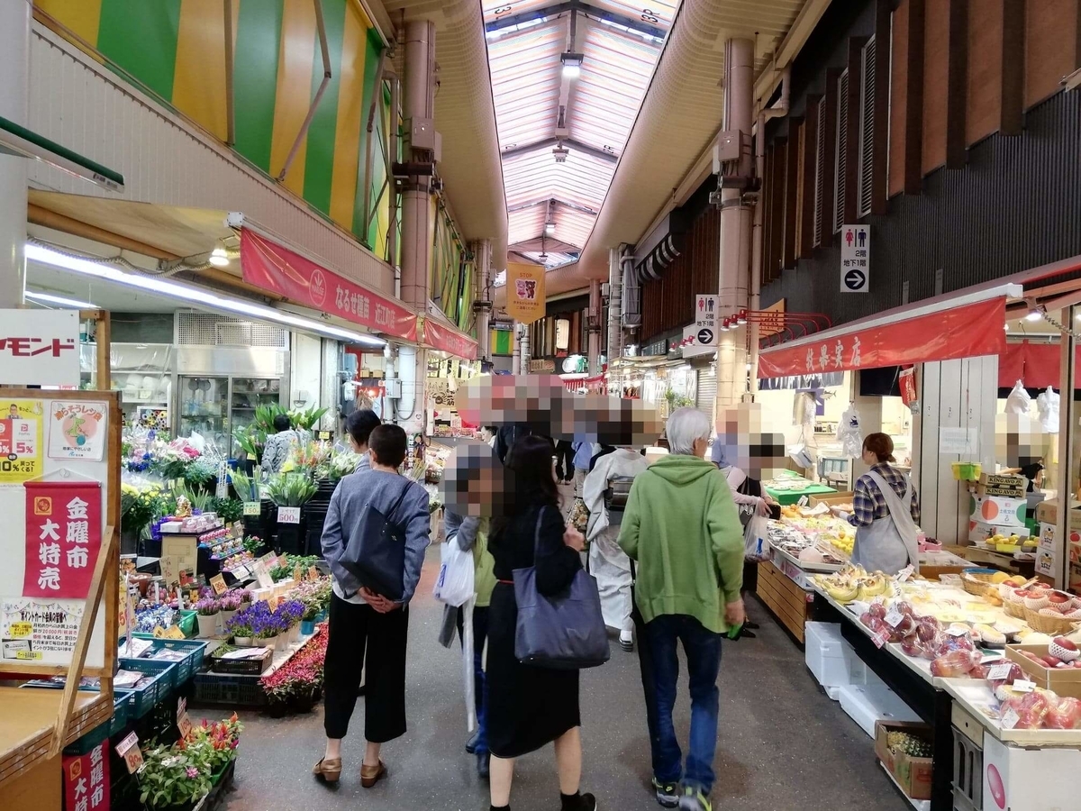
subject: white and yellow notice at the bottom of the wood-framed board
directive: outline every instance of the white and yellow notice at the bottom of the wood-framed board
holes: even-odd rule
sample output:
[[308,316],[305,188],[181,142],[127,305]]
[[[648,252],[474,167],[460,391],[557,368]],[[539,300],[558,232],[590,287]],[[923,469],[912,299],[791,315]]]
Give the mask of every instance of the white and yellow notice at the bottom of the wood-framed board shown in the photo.
[[85,600],[4,600],[0,646],[6,661],[39,664],[71,661]]

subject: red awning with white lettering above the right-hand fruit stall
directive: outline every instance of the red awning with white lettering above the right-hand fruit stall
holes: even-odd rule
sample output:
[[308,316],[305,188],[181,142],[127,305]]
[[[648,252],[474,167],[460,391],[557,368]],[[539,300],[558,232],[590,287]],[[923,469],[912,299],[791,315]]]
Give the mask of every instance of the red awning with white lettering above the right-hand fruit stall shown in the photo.
[[[934,360],[999,355],[1005,348],[1005,297],[878,327],[854,328],[799,346],[763,349],[759,377],[786,377]],[[812,336],[814,338],[814,336]]]

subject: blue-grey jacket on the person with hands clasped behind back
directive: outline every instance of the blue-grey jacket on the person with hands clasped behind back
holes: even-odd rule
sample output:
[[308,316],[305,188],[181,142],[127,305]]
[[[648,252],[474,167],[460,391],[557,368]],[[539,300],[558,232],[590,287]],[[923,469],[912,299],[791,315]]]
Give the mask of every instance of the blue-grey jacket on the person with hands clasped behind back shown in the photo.
[[[405,491],[393,515],[388,515]],[[360,521],[364,507],[371,504],[396,524],[405,528],[405,572],[402,577],[402,603],[408,603],[421,581],[424,550],[428,547],[431,518],[428,515],[428,491],[414,481],[383,470],[362,470],[344,477],[331,496],[323,523],[323,557],[331,568],[343,597],[360,589],[360,583],[341,563],[349,536]]]

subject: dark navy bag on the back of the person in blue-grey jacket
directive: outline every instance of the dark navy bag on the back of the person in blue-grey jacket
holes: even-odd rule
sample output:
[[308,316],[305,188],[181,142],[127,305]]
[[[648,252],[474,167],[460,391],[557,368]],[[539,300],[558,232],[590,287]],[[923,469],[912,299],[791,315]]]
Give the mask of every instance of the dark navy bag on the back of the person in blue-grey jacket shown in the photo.
[[386,515],[370,501],[364,504],[339,561],[362,586],[395,602],[402,598],[405,579],[405,524],[395,521],[395,513],[410,487],[406,481]]

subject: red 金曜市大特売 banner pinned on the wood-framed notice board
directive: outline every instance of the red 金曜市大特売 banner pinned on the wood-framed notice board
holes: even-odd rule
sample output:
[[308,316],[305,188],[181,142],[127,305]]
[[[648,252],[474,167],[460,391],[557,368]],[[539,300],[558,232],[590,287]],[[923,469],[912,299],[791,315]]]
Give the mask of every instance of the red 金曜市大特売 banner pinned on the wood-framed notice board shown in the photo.
[[102,550],[102,486],[28,481],[23,597],[84,600]]

